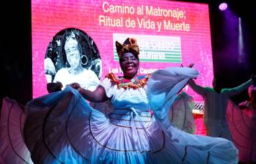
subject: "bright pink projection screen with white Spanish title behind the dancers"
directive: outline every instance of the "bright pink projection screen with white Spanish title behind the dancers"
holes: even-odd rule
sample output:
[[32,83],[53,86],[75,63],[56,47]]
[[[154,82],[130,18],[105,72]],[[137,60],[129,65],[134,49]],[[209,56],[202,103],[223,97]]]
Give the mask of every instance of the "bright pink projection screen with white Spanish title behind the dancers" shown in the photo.
[[[208,4],[164,0],[32,0],[33,97],[47,94],[46,84],[53,81],[55,72],[45,71],[45,67],[51,67],[45,65],[45,59],[53,62],[56,71],[65,67],[58,62],[57,51],[61,44],[58,37],[65,29],[87,34],[95,59],[100,59],[97,74],[100,79],[108,72],[121,73],[114,42],[134,37],[140,48],[139,74],[193,62],[200,71],[197,83],[211,86]],[[190,88],[186,92],[194,100],[202,101]]]

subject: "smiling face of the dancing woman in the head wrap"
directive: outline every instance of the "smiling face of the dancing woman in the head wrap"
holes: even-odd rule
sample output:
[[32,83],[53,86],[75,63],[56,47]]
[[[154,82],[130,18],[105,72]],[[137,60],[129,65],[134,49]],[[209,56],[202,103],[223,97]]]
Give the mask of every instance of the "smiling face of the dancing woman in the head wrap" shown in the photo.
[[133,53],[123,53],[120,57],[120,67],[125,78],[133,78],[139,69],[139,59]]

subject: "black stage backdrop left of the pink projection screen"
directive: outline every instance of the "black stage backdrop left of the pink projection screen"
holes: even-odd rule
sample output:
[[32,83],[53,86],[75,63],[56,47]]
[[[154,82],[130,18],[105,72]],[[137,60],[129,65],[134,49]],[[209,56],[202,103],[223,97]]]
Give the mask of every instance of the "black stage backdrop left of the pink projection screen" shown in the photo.
[[1,100],[10,97],[24,105],[32,99],[31,4],[1,3]]

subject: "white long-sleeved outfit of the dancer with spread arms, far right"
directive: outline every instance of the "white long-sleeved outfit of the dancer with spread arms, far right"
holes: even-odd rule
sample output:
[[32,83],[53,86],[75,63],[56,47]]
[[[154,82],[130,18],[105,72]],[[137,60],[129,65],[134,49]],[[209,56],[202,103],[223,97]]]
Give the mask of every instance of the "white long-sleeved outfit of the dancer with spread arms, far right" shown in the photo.
[[240,86],[232,89],[222,89],[220,93],[217,93],[212,88],[202,87],[194,83],[194,81],[189,81],[189,86],[204,99],[204,124],[207,135],[212,137],[223,137],[232,141],[226,116],[227,103],[230,97],[243,92],[251,84],[252,80],[249,80]]

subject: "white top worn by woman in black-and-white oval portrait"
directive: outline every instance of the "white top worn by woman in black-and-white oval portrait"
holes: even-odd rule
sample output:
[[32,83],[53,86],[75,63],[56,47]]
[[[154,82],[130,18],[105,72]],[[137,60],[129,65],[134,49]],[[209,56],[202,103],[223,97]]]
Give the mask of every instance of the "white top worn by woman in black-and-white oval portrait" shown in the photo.
[[82,70],[82,72],[78,74],[71,74],[68,72],[68,68],[62,68],[54,77],[54,83],[56,82],[62,83],[62,89],[70,83],[79,83],[83,89],[88,89],[90,91],[94,91],[98,83],[100,83],[97,75],[92,70]]

